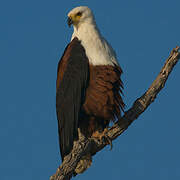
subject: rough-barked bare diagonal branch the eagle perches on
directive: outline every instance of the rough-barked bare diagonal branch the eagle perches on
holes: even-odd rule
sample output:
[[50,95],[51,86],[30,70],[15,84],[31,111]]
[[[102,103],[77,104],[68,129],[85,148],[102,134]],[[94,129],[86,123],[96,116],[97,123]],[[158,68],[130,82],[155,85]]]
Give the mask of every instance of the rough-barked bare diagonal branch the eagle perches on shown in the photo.
[[[155,100],[157,94],[164,87],[169,74],[173,70],[174,66],[180,59],[180,47],[174,48],[168,59],[166,60],[164,66],[162,67],[159,75],[151,84],[149,89],[135,102],[132,107],[124,113],[124,116],[117,121],[107,132],[107,136],[114,140],[120,136],[129,125],[137,119],[147,107]],[[72,152],[66,156],[63,163],[57,169],[56,174],[50,177],[50,180],[69,180],[72,174],[82,158],[86,154],[94,155],[101,149],[103,149],[107,144],[98,142],[93,138],[80,139],[74,144]]]

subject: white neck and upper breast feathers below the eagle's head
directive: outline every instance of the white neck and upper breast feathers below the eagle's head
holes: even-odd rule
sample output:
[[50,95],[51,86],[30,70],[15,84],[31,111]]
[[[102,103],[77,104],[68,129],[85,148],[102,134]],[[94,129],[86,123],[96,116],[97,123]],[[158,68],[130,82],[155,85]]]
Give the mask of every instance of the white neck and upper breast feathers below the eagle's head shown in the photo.
[[114,50],[101,36],[95,22],[87,21],[81,23],[78,28],[74,27],[72,39],[74,37],[77,37],[81,41],[90,64],[118,65]]

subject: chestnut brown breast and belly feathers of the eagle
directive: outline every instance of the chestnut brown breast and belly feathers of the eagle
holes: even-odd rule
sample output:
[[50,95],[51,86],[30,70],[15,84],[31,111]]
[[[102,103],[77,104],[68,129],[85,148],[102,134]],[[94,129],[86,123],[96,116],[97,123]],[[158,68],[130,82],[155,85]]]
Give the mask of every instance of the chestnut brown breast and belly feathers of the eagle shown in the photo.
[[90,79],[86,90],[83,109],[87,115],[114,120],[121,116],[124,103],[120,93],[123,84],[120,79],[122,70],[119,66],[89,66]]

